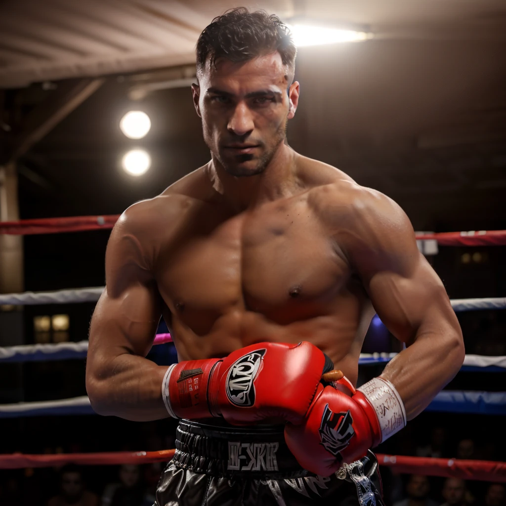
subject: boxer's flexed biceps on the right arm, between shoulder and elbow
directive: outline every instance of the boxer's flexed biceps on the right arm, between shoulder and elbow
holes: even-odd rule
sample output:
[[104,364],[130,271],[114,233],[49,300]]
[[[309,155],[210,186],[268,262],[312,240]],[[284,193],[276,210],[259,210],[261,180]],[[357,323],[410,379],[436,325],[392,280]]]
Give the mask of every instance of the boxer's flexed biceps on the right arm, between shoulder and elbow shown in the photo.
[[404,342],[412,341],[422,327],[430,331],[455,319],[441,280],[423,256],[408,274],[374,274],[368,292],[379,318]]

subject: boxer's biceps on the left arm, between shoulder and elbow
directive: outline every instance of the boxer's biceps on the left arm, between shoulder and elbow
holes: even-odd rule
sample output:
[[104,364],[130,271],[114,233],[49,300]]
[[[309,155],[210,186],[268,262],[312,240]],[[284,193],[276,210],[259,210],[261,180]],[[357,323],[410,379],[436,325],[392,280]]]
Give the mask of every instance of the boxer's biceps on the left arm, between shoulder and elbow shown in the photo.
[[116,297],[104,290],[90,327],[90,350],[112,355],[146,356],[160,320],[159,295],[154,282],[133,283]]

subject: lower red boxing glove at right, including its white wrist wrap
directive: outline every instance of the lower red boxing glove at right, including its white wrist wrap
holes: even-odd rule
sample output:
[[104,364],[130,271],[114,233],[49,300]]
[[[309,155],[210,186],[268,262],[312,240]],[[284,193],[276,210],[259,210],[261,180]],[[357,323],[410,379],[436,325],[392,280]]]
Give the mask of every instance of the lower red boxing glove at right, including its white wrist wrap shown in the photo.
[[406,420],[399,394],[383,378],[360,390],[345,377],[333,385],[319,386],[303,424],[285,426],[286,443],[300,465],[321,476],[364,456]]

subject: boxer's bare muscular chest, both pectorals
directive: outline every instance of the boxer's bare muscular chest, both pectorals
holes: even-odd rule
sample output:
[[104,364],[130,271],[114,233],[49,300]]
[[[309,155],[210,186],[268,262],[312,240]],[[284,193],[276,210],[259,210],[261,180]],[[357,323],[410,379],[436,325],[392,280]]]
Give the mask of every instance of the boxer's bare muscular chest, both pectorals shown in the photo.
[[161,255],[162,298],[174,315],[200,327],[199,334],[233,311],[279,324],[326,314],[349,278],[304,202],[236,216]]

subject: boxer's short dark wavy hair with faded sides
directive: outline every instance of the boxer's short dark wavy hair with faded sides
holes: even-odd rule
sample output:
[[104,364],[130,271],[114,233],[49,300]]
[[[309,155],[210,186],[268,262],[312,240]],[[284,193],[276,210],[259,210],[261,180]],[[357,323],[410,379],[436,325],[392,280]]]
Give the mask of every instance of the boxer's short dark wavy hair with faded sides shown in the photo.
[[207,59],[216,66],[219,58],[243,62],[278,51],[293,75],[297,48],[288,27],[274,14],[231,9],[207,25],[197,41],[197,72]]

